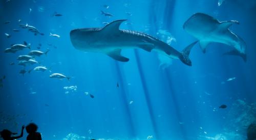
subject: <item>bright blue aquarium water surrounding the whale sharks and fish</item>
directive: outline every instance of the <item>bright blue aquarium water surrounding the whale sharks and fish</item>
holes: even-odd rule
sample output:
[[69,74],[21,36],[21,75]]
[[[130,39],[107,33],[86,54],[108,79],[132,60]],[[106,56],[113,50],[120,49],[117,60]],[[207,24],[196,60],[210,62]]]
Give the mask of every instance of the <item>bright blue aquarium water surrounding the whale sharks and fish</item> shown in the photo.
[[[114,16],[101,15],[100,10]],[[63,16],[52,16],[55,11]],[[163,68],[154,51],[125,49],[122,54],[130,61],[123,63],[105,54],[77,50],[70,41],[73,29],[103,27],[102,22],[127,19],[126,23],[131,24],[122,23],[120,29],[160,39],[159,30],[166,31],[176,39],[170,45],[181,51],[196,41],[182,25],[197,12],[220,21],[238,20],[240,24],[230,29],[246,42],[247,62],[240,57],[223,56],[230,50],[225,44],[212,43],[205,54],[196,44],[190,53],[193,66],[176,59]],[[204,0],[2,0],[0,15],[0,77],[6,76],[0,87],[1,130],[19,133],[22,125],[34,122],[42,138],[49,140],[63,139],[70,133],[86,137],[80,139],[152,136],[151,139],[193,140],[210,139],[225,132],[246,136],[246,128],[238,123],[234,123],[241,128],[237,131],[228,126],[237,119],[234,116],[245,111],[233,112],[241,110],[234,103],[256,102],[256,2],[253,0],[225,0],[221,6],[218,1]],[[4,24],[7,20],[11,22]],[[19,27],[26,23],[45,35],[34,36]],[[5,33],[11,37],[7,38]],[[50,33],[60,38],[49,36]],[[4,49],[23,41],[31,43],[31,50],[37,50],[41,43],[39,50],[50,51],[35,58],[39,64],[19,66],[18,55],[30,50],[4,53]],[[11,62],[15,64],[10,65]],[[36,66],[46,66],[50,71],[19,74],[23,68],[31,70]],[[71,79],[50,78],[52,73],[62,73]],[[232,77],[236,79],[227,81]],[[63,89],[67,86],[77,89]],[[228,107],[219,109],[222,104]],[[251,117],[248,120],[255,121],[256,111],[247,108],[251,109],[247,110]],[[26,136],[25,132],[20,139]]]

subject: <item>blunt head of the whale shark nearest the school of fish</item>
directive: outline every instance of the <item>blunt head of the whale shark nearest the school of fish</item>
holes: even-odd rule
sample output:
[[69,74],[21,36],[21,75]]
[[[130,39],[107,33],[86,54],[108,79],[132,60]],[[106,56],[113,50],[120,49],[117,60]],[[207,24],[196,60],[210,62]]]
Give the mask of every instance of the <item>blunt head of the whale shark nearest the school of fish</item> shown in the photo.
[[76,49],[87,50],[99,40],[100,28],[75,29],[70,32],[70,40]]

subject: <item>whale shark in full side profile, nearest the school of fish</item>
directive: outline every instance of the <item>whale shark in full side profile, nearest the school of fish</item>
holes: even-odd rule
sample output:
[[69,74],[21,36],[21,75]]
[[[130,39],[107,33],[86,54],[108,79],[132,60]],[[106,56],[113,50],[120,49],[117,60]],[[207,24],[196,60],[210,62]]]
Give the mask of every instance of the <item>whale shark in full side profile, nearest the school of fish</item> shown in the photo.
[[114,60],[127,62],[128,58],[121,55],[122,49],[141,48],[151,52],[156,50],[172,59],[180,59],[184,64],[191,66],[188,58],[191,48],[197,43],[194,42],[184,48],[181,52],[168,44],[145,33],[119,30],[120,24],[125,20],[116,20],[103,28],[75,29],[70,32],[70,39],[73,46],[81,51],[100,52]]

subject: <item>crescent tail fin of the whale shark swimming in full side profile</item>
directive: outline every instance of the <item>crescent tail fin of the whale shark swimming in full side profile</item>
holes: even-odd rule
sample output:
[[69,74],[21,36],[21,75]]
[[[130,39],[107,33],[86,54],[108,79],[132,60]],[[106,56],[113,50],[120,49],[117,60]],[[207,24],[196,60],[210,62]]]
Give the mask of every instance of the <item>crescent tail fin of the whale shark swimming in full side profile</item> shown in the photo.
[[182,51],[181,51],[181,55],[179,57],[180,61],[183,62],[184,64],[188,65],[188,66],[192,66],[192,62],[189,59],[189,53],[190,50],[193,48],[193,46],[195,44],[197,44],[198,41],[195,41],[191,44],[189,44],[187,47],[185,47]]

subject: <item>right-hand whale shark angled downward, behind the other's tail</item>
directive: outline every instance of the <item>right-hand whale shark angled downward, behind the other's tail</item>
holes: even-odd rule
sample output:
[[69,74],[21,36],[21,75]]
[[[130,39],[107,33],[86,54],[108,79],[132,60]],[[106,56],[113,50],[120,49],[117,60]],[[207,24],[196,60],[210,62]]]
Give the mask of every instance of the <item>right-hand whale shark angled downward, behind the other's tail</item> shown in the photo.
[[209,15],[196,13],[183,24],[183,29],[199,40],[204,53],[209,43],[218,42],[234,47],[233,50],[224,54],[239,55],[246,61],[245,42],[228,29],[234,23],[239,24],[235,20],[220,22]]

